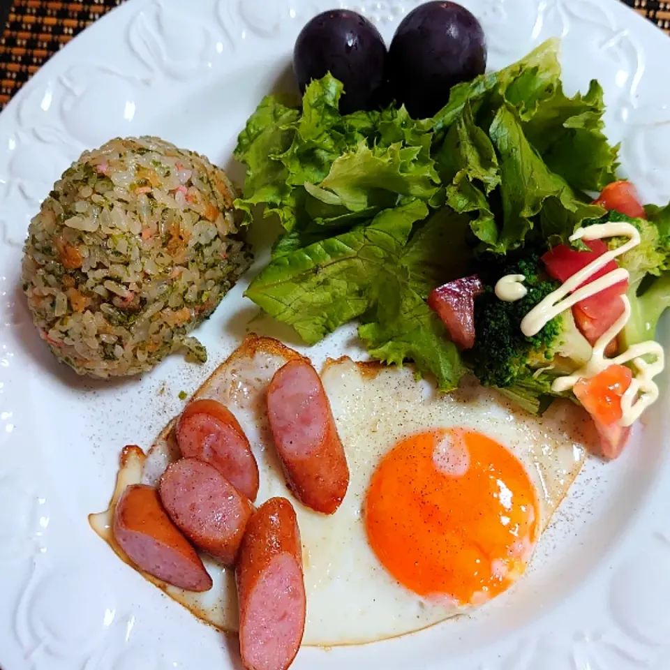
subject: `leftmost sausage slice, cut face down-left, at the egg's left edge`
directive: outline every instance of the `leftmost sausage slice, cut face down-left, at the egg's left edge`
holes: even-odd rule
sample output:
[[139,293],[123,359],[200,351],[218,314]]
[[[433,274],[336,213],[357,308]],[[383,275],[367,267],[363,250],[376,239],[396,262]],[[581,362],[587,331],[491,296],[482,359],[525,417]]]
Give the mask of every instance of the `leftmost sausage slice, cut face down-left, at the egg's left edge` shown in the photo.
[[170,521],[158,491],[133,484],[114,510],[114,539],[144,572],[187,591],[207,591],[211,577],[193,546]]

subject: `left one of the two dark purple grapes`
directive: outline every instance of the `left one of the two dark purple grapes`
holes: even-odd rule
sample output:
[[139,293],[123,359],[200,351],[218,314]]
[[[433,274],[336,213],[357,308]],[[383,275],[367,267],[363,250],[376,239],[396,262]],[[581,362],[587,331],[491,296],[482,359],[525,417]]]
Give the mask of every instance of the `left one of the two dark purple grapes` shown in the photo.
[[314,17],[301,31],[293,51],[300,91],[327,73],[344,84],[342,114],[373,110],[385,84],[386,45],[379,31],[360,14],[334,9]]

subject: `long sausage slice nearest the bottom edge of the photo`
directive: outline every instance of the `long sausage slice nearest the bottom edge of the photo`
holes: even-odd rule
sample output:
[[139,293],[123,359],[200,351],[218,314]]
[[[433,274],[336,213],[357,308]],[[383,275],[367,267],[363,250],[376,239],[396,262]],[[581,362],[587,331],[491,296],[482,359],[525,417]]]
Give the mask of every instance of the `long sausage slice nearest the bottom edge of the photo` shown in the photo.
[[254,512],[235,581],[244,667],[286,670],[302,641],[306,597],[298,522],[285,498],[271,498]]

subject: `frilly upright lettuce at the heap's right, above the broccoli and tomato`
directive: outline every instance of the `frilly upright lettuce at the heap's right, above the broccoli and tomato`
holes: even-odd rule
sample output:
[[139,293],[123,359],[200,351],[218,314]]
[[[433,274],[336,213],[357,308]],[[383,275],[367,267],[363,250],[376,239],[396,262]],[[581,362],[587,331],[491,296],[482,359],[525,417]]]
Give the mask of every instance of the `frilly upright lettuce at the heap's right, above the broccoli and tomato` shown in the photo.
[[[612,181],[617,147],[604,133],[600,85],[568,98],[558,40],[452,90],[433,119],[433,154],[449,207],[471,218],[479,251],[565,241],[602,209],[583,191]],[[540,239],[538,239],[540,238]]]

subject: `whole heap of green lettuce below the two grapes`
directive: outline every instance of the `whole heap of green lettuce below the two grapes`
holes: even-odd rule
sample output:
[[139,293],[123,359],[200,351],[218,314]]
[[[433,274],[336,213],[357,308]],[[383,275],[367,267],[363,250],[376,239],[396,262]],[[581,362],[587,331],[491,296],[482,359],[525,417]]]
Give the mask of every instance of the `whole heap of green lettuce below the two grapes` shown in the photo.
[[567,97],[549,40],[454,87],[431,119],[343,116],[342,94],[327,75],[301,108],[267,97],[239,137],[237,207],[250,223],[262,205],[285,230],[246,295],[310,344],[359,318],[373,357],[412,360],[449,391],[468,364],[426,297],[472,258],[566,242],[604,214],[586,195],[617,167],[602,89]]

